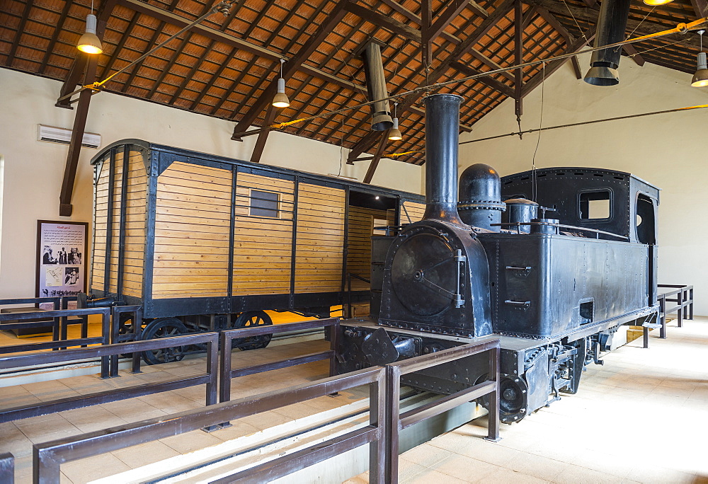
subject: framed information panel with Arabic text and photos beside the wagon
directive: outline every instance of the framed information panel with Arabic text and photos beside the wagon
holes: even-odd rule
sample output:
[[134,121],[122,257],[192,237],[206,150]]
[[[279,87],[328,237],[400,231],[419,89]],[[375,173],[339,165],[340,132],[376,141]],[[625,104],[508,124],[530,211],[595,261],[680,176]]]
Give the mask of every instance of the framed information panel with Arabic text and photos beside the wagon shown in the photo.
[[37,297],[86,292],[89,224],[37,221]]

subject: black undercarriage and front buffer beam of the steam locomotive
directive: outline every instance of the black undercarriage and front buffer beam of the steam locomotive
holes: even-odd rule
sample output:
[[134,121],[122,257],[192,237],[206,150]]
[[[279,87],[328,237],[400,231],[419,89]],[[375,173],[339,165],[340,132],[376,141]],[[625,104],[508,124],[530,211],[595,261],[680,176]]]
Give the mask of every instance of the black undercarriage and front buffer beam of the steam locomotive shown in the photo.
[[[651,321],[656,308],[647,308],[593,328],[582,328],[560,340],[541,341],[501,335],[500,419],[519,422],[525,416],[578,391],[581,376],[590,363],[603,364],[601,356],[624,344],[622,325]],[[591,331],[591,333],[588,333]],[[415,330],[383,328],[371,321],[348,320],[341,326],[338,373],[387,364],[451,347],[479,342],[480,338],[435,335]],[[494,335],[496,336],[496,335]],[[474,355],[401,377],[412,388],[451,394],[487,379],[488,362]],[[477,402],[485,408],[485,398]]]

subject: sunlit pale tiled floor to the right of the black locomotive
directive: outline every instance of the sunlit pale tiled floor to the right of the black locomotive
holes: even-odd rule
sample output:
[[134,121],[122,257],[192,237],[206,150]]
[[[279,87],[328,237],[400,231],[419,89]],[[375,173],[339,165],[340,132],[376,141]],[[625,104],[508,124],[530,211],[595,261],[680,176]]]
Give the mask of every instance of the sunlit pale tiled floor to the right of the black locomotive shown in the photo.
[[400,482],[708,483],[708,318],[656,332],[649,350],[639,339],[590,364],[576,395],[502,425],[498,443],[481,439],[482,417],[407,451]]

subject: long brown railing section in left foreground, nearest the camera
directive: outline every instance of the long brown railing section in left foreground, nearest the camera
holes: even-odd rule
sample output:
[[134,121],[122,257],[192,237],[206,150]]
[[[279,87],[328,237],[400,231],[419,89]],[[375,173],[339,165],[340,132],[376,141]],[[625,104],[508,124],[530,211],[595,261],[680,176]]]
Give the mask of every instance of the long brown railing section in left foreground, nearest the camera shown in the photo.
[[[150,342],[152,341],[150,340]],[[371,388],[369,425],[339,437],[333,437],[326,442],[314,444],[307,449],[302,449],[290,455],[280,456],[277,459],[232,474],[216,482],[266,482],[287,476],[290,473],[343,454],[358,446],[370,444],[370,480],[374,483],[383,483],[384,461],[386,459],[386,445],[384,442],[385,376],[386,371],[382,367],[363,369],[341,376],[329,377],[314,383],[217,403],[206,410],[188,410],[169,415],[169,417],[157,417],[106,430],[89,432],[81,436],[35,444],[33,446],[34,482],[38,484],[59,482],[59,466],[64,462],[86,459],[87,457],[97,456],[98,454],[115,451],[127,446],[212,427],[221,422],[238,420],[249,415],[256,415],[368,384]]]

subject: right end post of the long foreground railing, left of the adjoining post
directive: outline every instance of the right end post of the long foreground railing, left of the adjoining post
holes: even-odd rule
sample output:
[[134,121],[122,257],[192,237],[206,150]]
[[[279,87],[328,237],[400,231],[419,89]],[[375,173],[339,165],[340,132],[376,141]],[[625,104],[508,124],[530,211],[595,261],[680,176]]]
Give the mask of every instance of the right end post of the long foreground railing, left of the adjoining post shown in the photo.
[[376,440],[369,444],[369,482],[384,484],[387,482],[386,463],[388,430],[387,418],[387,370],[381,368],[375,383],[369,386],[369,424],[377,428]]

